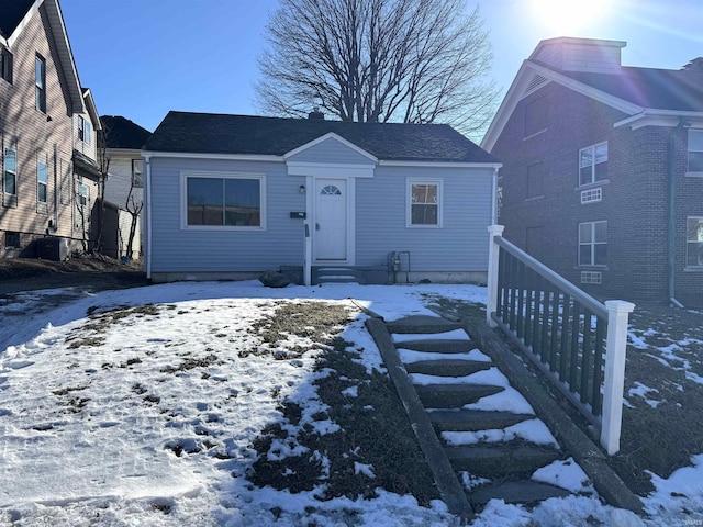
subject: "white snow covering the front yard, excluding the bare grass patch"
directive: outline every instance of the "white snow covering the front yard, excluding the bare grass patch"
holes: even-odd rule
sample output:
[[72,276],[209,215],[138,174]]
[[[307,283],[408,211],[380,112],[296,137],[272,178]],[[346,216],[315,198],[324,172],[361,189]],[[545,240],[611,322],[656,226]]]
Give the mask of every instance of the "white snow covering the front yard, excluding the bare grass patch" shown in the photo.
[[[70,303],[51,311],[43,311],[42,298],[71,292],[12,296],[0,305],[0,525],[456,525],[440,502],[424,508],[388,492],[371,501],[321,502],[315,491],[257,489],[245,478],[256,455],[252,441],[281,419],[281,399],[299,403],[304,415],[322,404],[312,384],[323,374],[313,371],[314,354],[288,361],[252,354],[263,346],[252,324],[282,299],[362,305],[387,319],[429,314],[424,293],[473,302],[486,295],[470,285],[272,290],[247,281],[74,292]],[[107,314],[118,306],[119,317]],[[364,317],[343,337],[364,350],[367,369],[382,369]],[[286,346],[309,344],[291,336]],[[646,397],[644,388],[631,395]],[[514,395],[501,404],[523,404]],[[324,431],[336,425],[315,426]],[[553,440],[535,426],[451,439]],[[583,474],[573,464],[556,463],[534,478],[582,490]],[[367,476],[372,471],[358,466]],[[645,501],[651,517],[644,522],[603,505],[591,489],[532,511],[493,501],[472,525],[703,524],[703,456],[668,480],[654,475],[654,483],[657,491]]]

